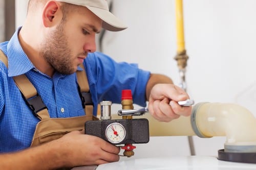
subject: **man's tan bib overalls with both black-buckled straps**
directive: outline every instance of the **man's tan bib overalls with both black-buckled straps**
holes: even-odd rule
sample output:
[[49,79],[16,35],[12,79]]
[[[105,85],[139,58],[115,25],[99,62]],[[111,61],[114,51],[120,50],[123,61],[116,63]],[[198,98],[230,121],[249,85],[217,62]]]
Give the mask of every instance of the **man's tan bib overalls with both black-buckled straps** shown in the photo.
[[[1,50],[0,50],[0,60],[2,60],[5,63],[5,65],[8,67],[7,57],[4,55],[4,53]],[[90,94],[88,93],[89,84],[88,84],[88,80],[87,80],[87,76],[86,76],[86,72],[83,67],[83,64],[81,64],[80,67],[82,67],[83,71],[77,71],[76,74],[77,74],[77,80],[78,80],[78,85],[80,87],[81,94],[85,98],[84,95]],[[49,116],[47,107],[41,101],[41,98],[37,94],[35,87],[28,80],[26,75],[16,76],[16,77],[13,77],[13,79],[17,87],[19,88],[20,92],[22,92],[22,94],[26,98],[27,102],[29,102],[28,99],[31,99],[34,96],[37,97],[37,100],[34,103],[35,105],[34,107],[32,105],[32,108],[35,109],[34,113],[41,121],[36,125],[34,136],[30,145],[31,147],[34,147],[38,144],[45,143],[54,139],[58,139],[63,135],[74,130],[82,131],[84,130],[84,123],[87,120],[98,119],[97,117],[93,116],[93,105],[92,104],[88,105],[84,100],[84,98],[82,99],[84,102],[84,106],[85,106],[84,111],[86,112],[86,115],[78,116],[78,117],[70,117],[70,118],[51,118]],[[91,95],[90,95],[90,98],[91,98]]]

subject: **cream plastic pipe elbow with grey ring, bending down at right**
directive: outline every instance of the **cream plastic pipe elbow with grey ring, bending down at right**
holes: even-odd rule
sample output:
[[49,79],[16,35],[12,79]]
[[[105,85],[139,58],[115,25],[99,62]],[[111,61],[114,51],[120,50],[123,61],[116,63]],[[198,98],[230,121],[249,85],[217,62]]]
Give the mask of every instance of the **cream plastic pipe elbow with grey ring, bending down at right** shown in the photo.
[[242,106],[198,103],[191,125],[199,137],[226,136],[225,152],[256,152],[256,119]]

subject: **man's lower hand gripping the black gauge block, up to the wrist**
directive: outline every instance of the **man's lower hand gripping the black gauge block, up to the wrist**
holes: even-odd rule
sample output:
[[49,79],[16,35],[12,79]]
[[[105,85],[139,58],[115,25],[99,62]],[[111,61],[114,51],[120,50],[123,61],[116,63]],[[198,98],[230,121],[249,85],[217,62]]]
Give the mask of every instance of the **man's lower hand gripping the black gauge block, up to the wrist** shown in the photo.
[[120,148],[92,135],[73,131],[56,140],[63,148],[67,167],[98,165],[119,160]]

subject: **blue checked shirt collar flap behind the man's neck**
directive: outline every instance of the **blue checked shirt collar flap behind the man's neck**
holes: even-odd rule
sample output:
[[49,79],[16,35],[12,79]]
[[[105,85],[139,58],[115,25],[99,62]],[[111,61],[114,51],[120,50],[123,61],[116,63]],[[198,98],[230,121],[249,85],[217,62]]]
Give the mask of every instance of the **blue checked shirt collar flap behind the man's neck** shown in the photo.
[[[21,28],[22,27],[19,27],[15,31],[12,38],[7,44],[8,76],[9,77],[23,75],[29,70],[35,68],[35,66],[29,60],[28,56],[25,54],[22,46],[19,43],[18,34]],[[77,70],[81,71],[82,68],[78,66]]]

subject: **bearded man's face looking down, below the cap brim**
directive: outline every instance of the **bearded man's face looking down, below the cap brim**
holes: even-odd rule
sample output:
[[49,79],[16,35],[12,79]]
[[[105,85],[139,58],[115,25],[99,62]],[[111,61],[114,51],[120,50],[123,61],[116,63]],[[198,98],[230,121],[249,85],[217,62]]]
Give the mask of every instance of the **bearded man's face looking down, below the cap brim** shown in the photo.
[[101,26],[100,18],[86,7],[78,7],[46,36],[40,54],[60,74],[73,74],[87,54],[95,52],[95,34]]

